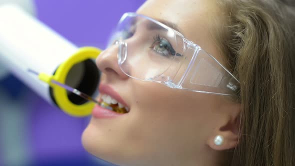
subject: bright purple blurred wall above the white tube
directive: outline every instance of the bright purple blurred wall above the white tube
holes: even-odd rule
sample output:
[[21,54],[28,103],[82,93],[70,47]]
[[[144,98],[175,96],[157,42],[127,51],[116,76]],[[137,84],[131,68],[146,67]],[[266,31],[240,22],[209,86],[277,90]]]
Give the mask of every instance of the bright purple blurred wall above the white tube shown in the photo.
[[144,0],[35,0],[38,18],[78,46],[105,47],[120,16]]

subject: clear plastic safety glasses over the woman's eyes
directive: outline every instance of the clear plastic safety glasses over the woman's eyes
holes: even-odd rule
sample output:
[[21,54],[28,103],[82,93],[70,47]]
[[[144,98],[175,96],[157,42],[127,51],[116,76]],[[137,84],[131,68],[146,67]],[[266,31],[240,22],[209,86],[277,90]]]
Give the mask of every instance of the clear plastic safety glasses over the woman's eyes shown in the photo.
[[239,81],[213,56],[147,16],[123,14],[110,39],[118,45],[118,65],[132,78],[203,93],[239,90]]

